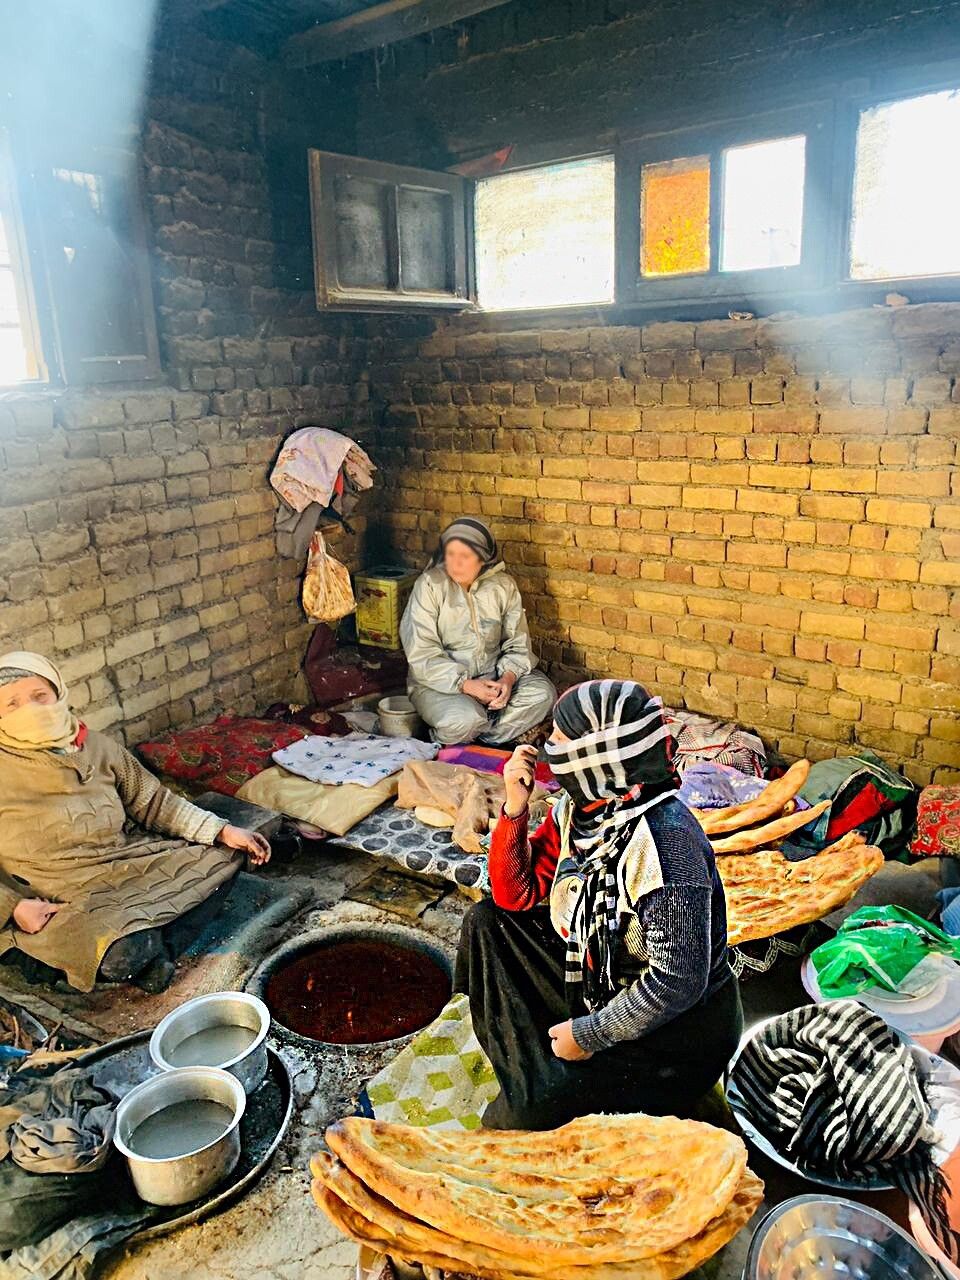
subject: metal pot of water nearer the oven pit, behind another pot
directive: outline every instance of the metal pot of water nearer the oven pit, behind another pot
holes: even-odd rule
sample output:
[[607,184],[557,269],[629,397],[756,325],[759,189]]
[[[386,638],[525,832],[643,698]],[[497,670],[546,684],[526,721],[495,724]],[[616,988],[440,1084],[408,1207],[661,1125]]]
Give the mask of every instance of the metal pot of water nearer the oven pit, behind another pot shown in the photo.
[[[215,1036],[223,1029],[229,1038],[228,1028],[241,1028],[252,1032],[253,1038],[241,1052],[220,1056],[211,1038],[193,1042],[197,1051],[191,1059],[193,1036],[210,1032]],[[161,1071],[182,1066],[219,1066],[236,1075],[247,1093],[252,1093],[266,1075],[266,1033],[270,1030],[270,1010],[262,1000],[247,995],[246,991],[218,991],[210,996],[197,996],[178,1009],[172,1010],[157,1024],[150,1037],[150,1056]],[[212,1052],[211,1052],[212,1051]]]

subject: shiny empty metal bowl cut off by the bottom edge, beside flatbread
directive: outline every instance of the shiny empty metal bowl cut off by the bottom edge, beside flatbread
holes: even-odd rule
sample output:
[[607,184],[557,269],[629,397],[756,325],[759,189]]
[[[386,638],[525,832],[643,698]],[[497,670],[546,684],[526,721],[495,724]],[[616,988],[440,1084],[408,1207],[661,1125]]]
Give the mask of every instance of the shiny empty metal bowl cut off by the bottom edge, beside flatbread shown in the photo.
[[942,1280],[906,1231],[838,1196],[796,1196],[756,1228],[744,1280]]

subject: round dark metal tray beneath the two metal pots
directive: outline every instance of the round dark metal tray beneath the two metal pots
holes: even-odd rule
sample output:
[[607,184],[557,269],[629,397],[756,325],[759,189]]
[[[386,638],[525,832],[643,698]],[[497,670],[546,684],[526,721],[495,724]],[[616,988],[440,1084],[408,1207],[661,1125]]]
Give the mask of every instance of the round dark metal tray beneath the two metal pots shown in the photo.
[[[150,1057],[150,1032],[137,1032],[122,1039],[101,1044],[77,1059],[76,1066],[96,1066],[93,1080],[123,1096],[136,1084],[160,1074],[160,1069]],[[156,1208],[151,1219],[129,1243],[152,1239],[177,1231],[182,1226],[200,1222],[239,1199],[266,1172],[293,1111],[293,1085],[287,1064],[276,1050],[268,1046],[268,1068],[264,1083],[247,1098],[247,1110],[241,1121],[241,1157],[237,1167],[214,1192],[195,1204],[180,1204],[175,1208]],[[128,1179],[124,1171],[124,1189]],[[123,1190],[118,1188],[118,1193]],[[131,1208],[150,1210],[137,1199],[129,1187]]]

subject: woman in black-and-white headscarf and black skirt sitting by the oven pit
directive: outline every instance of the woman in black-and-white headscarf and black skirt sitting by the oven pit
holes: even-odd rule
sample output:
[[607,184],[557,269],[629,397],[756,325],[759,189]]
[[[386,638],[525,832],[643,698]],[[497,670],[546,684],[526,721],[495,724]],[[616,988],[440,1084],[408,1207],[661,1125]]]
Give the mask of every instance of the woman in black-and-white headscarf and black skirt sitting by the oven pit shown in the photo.
[[640,685],[568,690],[545,748],[564,795],[530,838],[535,754],[507,764],[493,902],[463,922],[454,980],[500,1083],[488,1128],[682,1116],[740,1042],[723,887],[671,741]]

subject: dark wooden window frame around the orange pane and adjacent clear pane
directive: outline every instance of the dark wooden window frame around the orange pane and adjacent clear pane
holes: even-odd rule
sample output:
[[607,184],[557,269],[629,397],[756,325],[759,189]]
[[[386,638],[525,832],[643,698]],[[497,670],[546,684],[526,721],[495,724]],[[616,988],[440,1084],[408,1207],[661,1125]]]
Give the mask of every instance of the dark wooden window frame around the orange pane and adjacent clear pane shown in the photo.
[[[663,302],[755,298],[777,293],[803,293],[820,288],[827,265],[829,189],[833,159],[833,108],[828,101],[739,118],[710,125],[648,133],[625,140],[617,148],[617,302],[649,306]],[[748,271],[721,271],[723,234],[723,154],[803,134],[804,211],[800,262]],[[707,155],[710,161],[710,268],[672,276],[645,276],[640,271],[643,246],[641,173],[645,165]]]

